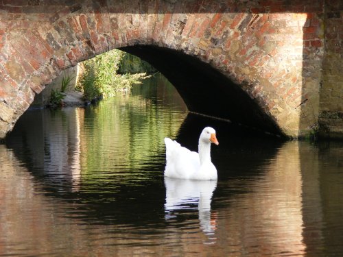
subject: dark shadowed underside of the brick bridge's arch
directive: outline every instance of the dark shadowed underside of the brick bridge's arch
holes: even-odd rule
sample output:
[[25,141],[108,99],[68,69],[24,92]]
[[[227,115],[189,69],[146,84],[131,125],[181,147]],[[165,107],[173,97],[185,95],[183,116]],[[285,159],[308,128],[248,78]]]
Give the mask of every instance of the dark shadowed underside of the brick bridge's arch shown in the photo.
[[229,119],[272,134],[279,126],[237,84],[198,58],[164,47],[134,45],[122,51],[152,64],[176,87],[190,112]]

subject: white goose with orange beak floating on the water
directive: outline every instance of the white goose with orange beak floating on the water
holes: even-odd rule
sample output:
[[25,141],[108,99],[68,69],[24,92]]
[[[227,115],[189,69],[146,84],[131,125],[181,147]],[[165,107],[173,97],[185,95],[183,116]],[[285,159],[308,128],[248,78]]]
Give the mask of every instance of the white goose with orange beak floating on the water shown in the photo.
[[217,180],[217,169],[211,162],[211,143],[219,145],[212,127],[205,127],[199,138],[199,154],[165,138],[165,177],[189,180]]

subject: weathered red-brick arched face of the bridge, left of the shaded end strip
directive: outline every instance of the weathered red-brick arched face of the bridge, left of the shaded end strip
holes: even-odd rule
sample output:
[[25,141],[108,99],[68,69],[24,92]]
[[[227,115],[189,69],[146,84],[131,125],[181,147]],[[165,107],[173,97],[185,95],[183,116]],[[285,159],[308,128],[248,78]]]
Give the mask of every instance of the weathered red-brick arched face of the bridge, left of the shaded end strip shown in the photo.
[[331,77],[321,72],[329,33],[323,29],[325,6],[324,0],[1,0],[0,138],[62,70],[134,45],[193,56],[237,85],[231,91],[211,88],[226,103],[236,98],[233,108],[211,115],[244,123],[237,110],[246,98],[239,102],[228,93],[240,90],[281,134],[305,135],[324,114],[320,82]]

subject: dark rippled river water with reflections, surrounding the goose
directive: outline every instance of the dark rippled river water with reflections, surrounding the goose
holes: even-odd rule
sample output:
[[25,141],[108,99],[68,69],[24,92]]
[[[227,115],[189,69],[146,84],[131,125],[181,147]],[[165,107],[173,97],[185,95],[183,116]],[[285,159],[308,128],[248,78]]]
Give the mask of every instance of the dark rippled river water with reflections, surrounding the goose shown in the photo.
[[[205,103],[204,103],[205,104]],[[165,180],[165,136],[217,182]],[[342,256],[343,143],[189,114],[163,77],[88,108],[29,110],[0,144],[0,256]]]

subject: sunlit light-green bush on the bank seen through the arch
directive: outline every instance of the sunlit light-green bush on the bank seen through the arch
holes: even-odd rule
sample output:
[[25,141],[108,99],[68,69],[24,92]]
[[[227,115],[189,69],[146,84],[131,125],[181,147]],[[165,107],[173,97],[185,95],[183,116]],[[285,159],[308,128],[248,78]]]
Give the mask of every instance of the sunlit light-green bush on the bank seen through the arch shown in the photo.
[[123,56],[123,51],[115,49],[83,62],[84,71],[78,88],[83,91],[86,99],[113,97],[118,91],[128,90],[132,84],[138,84],[139,79],[146,77],[145,73],[118,75]]

